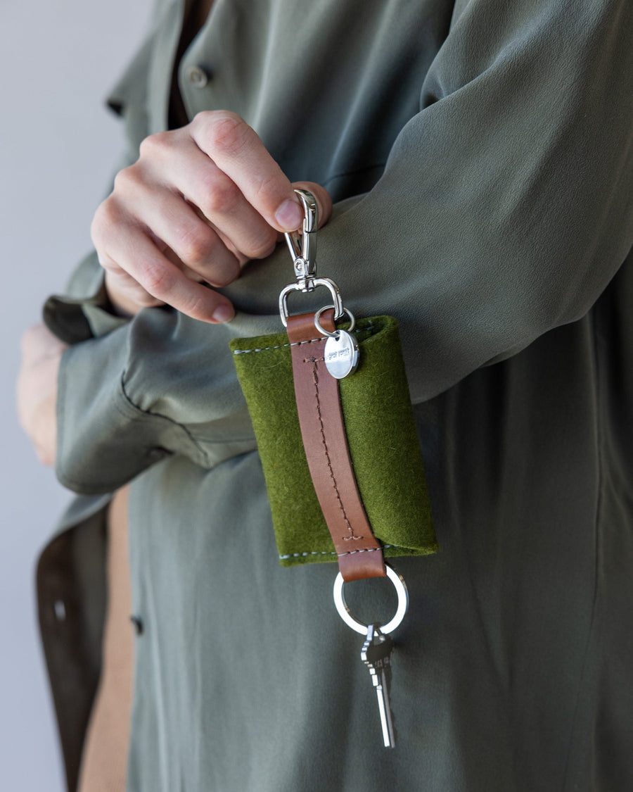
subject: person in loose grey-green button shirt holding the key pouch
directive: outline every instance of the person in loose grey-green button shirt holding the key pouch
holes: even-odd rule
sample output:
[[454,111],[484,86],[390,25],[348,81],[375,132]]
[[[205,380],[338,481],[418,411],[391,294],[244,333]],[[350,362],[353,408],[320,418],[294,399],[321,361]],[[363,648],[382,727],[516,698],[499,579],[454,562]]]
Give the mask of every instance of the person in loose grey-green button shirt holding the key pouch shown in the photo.
[[[127,164],[21,376],[80,493],[38,571],[69,789],[127,485],[129,792],[631,788],[631,17],[158,2],[110,99]],[[332,565],[278,565],[228,348],[279,331],[298,183],[346,303],[400,322],[434,509],[438,554],[396,559],[392,751]]]

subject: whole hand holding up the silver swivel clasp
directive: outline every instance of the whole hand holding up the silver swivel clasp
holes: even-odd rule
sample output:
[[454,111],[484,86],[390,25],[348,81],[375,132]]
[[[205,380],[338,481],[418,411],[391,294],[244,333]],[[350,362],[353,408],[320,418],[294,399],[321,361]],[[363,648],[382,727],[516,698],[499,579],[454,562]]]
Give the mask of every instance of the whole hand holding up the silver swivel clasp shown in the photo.
[[[325,223],[327,190],[294,186],[313,192]],[[120,171],[97,209],[92,234],[108,295],[123,314],[169,303],[226,322],[234,315],[229,299],[202,284],[231,283],[302,221],[293,185],[256,132],[234,113],[207,111],[141,143],[138,161]]]

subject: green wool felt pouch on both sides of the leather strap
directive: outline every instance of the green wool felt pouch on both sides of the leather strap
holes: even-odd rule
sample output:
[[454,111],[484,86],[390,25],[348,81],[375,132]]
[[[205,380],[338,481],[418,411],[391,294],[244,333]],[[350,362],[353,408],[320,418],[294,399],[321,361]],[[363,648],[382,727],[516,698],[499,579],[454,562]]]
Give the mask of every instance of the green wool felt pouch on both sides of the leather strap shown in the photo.
[[[361,319],[354,335],[360,364],[339,380],[339,393],[367,518],[385,556],[433,553],[438,545],[398,324],[389,316]],[[288,337],[237,338],[230,348],[255,429],[279,560],[336,561],[305,459]]]

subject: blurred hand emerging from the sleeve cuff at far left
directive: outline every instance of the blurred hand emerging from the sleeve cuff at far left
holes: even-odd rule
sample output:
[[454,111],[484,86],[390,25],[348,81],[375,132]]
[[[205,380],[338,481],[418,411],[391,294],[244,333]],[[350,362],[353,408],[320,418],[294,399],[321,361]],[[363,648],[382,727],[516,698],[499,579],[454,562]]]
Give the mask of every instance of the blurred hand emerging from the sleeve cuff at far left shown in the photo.
[[22,365],[17,377],[17,416],[40,462],[55,464],[57,446],[57,376],[66,344],[44,325],[22,336]]

